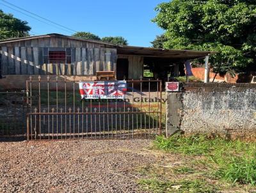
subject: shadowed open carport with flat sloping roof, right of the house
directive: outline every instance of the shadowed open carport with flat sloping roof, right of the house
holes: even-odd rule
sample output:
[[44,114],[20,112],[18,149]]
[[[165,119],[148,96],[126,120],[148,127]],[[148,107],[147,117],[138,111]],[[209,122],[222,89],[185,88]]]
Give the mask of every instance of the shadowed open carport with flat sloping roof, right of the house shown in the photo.
[[209,55],[216,53],[211,51],[157,49],[126,45],[119,45],[116,47],[116,50],[118,58],[127,58],[129,60],[129,73],[127,72],[127,74],[130,79],[138,78],[139,75],[143,74],[143,70],[148,69],[154,73],[155,78],[158,77],[163,80],[169,74],[174,77],[184,75],[183,68],[187,60],[205,59],[205,71],[208,73]]

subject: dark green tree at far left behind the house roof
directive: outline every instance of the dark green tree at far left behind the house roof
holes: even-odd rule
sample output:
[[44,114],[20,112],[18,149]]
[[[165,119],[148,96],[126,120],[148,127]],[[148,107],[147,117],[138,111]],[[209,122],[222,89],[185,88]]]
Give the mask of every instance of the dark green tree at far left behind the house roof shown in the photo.
[[6,14],[0,10],[0,40],[8,38],[19,38],[29,36],[28,22],[13,17],[12,14]]

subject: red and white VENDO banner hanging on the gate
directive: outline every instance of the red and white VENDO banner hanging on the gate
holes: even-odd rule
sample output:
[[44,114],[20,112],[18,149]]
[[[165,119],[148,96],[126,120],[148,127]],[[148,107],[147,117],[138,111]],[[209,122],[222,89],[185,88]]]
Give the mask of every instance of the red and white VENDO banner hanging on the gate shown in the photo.
[[124,99],[127,91],[126,81],[79,82],[82,99]]

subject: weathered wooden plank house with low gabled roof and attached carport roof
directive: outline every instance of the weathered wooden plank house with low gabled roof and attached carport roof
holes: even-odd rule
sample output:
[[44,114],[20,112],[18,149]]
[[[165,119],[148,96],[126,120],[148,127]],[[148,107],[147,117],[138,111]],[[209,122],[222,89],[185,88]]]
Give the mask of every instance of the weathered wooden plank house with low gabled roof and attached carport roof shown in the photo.
[[0,86],[20,88],[30,75],[95,80],[100,71],[113,71],[115,79],[140,79],[143,65],[154,63],[155,71],[163,72],[170,63],[210,53],[114,45],[59,34],[13,38],[0,41]]

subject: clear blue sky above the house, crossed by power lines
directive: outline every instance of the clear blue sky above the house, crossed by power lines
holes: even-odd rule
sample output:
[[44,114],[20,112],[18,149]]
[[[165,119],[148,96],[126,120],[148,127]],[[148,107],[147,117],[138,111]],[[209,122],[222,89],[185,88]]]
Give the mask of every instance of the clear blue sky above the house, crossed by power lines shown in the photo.
[[[150,42],[154,40],[156,35],[163,33],[163,30],[151,22],[151,19],[156,16],[154,8],[157,4],[168,2],[168,0],[5,1],[75,31],[90,31],[100,37],[124,36],[129,45],[144,47],[151,46]],[[72,31],[63,31],[60,28],[49,26],[3,4],[6,3],[0,0],[1,10],[12,13],[15,17],[29,23],[29,26],[32,27],[31,34],[61,33],[72,35]]]

